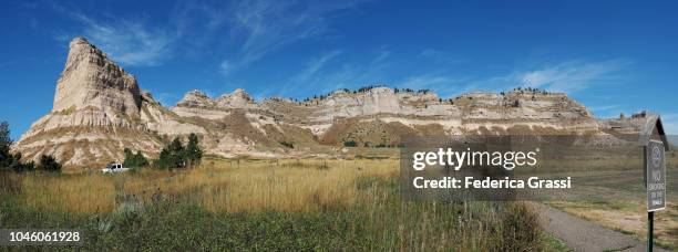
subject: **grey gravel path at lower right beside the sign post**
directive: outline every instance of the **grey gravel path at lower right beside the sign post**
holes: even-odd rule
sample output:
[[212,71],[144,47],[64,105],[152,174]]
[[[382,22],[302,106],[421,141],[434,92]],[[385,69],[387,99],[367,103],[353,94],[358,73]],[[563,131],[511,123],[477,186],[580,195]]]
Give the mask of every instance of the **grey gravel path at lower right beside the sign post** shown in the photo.
[[[635,238],[544,204],[535,204],[540,225],[575,251],[646,251],[647,244]],[[653,246],[654,251],[666,251]]]

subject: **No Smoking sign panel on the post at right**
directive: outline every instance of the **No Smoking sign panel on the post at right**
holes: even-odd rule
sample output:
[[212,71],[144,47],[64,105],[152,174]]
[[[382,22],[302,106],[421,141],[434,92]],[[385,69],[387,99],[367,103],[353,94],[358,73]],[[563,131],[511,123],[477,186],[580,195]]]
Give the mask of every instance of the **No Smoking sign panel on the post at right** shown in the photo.
[[645,148],[645,179],[647,185],[647,211],[666,208],[666,164],[664,143],[650,139]]

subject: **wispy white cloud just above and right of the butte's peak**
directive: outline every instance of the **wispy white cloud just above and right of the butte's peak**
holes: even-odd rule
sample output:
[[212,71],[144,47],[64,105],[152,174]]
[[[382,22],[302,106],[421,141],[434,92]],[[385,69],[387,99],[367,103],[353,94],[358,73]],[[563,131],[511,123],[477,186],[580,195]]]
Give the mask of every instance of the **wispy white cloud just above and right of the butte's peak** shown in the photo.
[[54,6],[82,27],[78,32],[59,34],[58,39],[84,35],[113,60],[125,65],[160,65],[171,56],[171,45],[177,40],[176,31],[147,25],[143,19],[96,20],[84,13]]

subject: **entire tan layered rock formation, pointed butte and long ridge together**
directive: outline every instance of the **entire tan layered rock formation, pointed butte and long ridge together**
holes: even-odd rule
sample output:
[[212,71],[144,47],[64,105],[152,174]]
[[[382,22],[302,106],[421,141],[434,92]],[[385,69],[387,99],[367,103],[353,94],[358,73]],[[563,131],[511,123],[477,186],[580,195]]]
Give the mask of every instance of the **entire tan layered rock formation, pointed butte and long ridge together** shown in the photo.
[[398,146],[410,135],[603,134],[612,124],[566,94],[533,90],[441,98],[430,91],[373,86],[304,102],[255,101],[240,88],[215,98],[191,91],[166,108],[136,77],[76,38],[52,111],[13,151],[27,159],[51,154],[79,169],[121,160],[125,147],[154,157],[167,140],[191,133],[207,154],[285,157],[336,156],[346,145]]

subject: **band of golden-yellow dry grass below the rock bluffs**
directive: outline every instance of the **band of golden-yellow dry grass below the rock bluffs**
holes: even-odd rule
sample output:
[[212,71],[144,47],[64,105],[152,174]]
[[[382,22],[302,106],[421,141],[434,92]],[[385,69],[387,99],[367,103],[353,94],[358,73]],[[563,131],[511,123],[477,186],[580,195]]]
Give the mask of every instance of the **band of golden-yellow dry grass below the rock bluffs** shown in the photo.
[[24,176],[23,203],[60,212],[110,212],[129,201],[187,200],[215,212],[317,211],[351,206],[360,177],[396,177],[398,160],[206,159],[188,170]]

